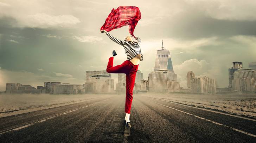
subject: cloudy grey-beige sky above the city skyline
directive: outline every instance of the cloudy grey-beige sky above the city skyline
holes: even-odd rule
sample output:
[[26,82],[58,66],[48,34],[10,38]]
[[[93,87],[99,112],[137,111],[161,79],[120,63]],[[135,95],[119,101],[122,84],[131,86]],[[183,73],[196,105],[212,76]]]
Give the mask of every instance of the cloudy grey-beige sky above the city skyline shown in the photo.
[[[118,6],[140,8],[134,35],[141,38],[144,79],[154,70],[162,39],[181,86],[186,72],[194,71],[227,87],[233,61],[244,68],[256,61],[254,0],[0,0],[0,86],[83,84],[85,71],[106,69],[113,50],[114,65],[122,64],[123,47],[99,30]],[[128,26],[109,33],[123,40]]]

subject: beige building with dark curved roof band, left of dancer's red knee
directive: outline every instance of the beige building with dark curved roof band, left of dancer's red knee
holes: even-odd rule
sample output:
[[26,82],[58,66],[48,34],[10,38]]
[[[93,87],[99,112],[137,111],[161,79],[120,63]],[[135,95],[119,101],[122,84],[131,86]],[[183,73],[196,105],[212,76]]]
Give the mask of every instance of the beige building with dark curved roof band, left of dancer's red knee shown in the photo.
[[113,93],[114,79],[107,71],[85,72],[85,93]]

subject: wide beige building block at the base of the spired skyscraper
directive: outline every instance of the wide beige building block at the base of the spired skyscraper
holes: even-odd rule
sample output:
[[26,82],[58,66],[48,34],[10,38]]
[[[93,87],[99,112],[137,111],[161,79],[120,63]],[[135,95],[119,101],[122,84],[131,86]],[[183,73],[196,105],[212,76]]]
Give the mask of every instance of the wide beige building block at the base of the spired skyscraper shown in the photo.
[[177,75],[169,70],[157,70],[148,74],[149,92],[177,92]]

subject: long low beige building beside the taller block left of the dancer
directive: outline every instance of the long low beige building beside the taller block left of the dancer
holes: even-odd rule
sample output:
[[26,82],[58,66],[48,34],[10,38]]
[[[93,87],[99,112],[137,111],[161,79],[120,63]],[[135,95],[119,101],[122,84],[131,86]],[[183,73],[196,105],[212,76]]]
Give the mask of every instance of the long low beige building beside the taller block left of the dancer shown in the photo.
[[53,94],[83,94],[84,85],[81,84],[56,84]]

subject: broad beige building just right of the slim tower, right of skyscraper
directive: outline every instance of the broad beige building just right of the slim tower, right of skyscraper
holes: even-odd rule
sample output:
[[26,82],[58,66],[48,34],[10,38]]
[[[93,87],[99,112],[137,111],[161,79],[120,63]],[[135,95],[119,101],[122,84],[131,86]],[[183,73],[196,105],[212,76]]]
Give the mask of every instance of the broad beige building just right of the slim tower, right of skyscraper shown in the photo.
[[192,78],[191,92],[202,94],[216,94],[217,90],[215,79],[208,77]]

